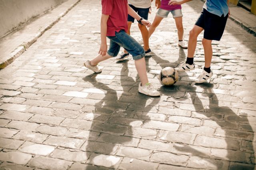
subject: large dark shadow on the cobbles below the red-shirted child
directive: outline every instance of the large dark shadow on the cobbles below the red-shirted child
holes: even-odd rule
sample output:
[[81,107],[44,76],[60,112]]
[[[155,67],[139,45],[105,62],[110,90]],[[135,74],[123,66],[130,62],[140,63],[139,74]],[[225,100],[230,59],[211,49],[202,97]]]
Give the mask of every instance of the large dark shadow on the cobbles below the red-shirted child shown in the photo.
[[[133,131],[134,129],[140,130],[143,123],[150,121],[147,113],[160,101],[160,97],[152,98],[138,92],[132,93],[132,90],[138,89],[139,82],[136,82],[138,75],[135,80],[128,76],[128,60],[117,63],[122,64],[120,83],[123,91],[116,91],[108,85],[98,83],[95,79],[97,74],[83,78],[84,81],[92,83],[95,88],[106,91],[105,96],[95,104],[94,111],[92,111],[95,116],[90,128],[90,138],[85,148],[89,158],[86,163],[104,165],[108,168],[116,168],[114,164],[122,161],[122,157],[118,156],[129,157],[124,149],[126,146],[137,147],[142,136],[139,136],[140,131],[136,134]],[[146,63],[148,65],[148,60]],[[136,96],[132,94],[136,94]],[[136,129],[137,127],[138,129]],[[95,132],[100,132],[100,136],[95,136]],[[116,155],[116,158],[109,155]],[[86,169],[91,168],[88,166]]]

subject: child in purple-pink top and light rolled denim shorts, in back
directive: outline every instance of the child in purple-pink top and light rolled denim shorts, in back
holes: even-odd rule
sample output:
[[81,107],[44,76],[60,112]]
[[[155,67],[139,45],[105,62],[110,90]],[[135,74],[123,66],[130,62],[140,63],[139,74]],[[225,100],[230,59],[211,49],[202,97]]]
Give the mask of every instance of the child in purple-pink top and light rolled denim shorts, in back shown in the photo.
[[172,17],[175,20],[176,28],[178,30],[178,45],[182,48],[188,48],[185,42],[183,42],[183,24],[182,24],[182,12],[181,12],[181,5],[168,5],[170,0],[156,0],[158,3],[161,3],[160,9],[158,9],[155,19],[148,29],[149,37],[153,34],[156,30],[156,27],[160,24],[163,18],[167,18],[168,14],[171,12]]

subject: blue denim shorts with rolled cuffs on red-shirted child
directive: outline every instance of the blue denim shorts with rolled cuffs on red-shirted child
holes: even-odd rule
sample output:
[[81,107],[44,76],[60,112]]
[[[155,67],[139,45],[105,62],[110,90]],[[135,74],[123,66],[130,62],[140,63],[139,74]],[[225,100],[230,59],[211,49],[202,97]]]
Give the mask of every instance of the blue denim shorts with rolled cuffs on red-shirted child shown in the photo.
[[146,55],[144,48],[124,30],[116,32],[116,36],[108,36],[108,38],[110,39],[110,46],[107,53],[112,57],[118,55],[120,47],[128,51],[134,60],[141,59]]

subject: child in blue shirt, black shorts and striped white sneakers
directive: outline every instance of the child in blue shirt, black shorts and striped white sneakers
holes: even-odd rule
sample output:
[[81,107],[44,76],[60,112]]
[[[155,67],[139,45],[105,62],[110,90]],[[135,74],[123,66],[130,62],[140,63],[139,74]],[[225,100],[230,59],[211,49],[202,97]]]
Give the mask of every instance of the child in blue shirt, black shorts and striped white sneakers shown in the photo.
[[[183,4],[191,0],[170,0],[169,5]],[[212,77],[210,69],[212,61],[212,40],[220,41],[224,32],[226,22],[230,15],[228,0],[206,0],[203,11],[196,24],[189,32],[188,57],[185,63],[176,68],[177,71],[187,71],[195,69],[194,53],[198,35],[204,30],[202,45],[204,47],[204,70],[195,79],[196,83],[203,83]]]

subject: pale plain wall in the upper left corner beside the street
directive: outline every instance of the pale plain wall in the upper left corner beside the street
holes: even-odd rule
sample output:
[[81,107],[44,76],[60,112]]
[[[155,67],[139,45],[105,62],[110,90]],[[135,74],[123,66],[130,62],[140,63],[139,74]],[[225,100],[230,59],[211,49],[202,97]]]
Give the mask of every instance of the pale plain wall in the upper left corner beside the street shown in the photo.
[[67,0],[0,0],[0,37]]

